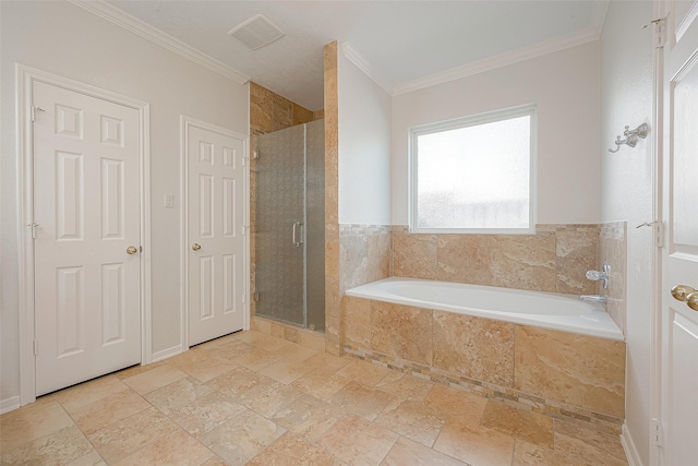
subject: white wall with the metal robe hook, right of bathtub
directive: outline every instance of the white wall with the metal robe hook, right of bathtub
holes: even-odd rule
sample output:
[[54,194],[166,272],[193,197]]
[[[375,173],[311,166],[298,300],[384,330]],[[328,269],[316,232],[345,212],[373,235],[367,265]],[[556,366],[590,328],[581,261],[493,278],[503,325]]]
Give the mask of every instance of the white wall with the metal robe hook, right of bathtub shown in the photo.
[[[652,2],[611,2],[601,39],[601,222],[626,220],[626,428],[649,464],[652,234],[635,228],[652,219],[650,138],[616,154],[625,126],[652,123]],[[650,132],[652,129],[650,128]]]

